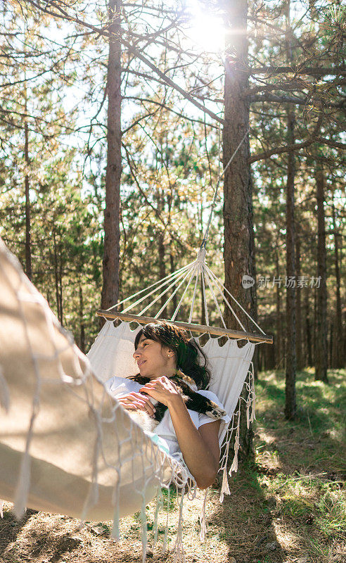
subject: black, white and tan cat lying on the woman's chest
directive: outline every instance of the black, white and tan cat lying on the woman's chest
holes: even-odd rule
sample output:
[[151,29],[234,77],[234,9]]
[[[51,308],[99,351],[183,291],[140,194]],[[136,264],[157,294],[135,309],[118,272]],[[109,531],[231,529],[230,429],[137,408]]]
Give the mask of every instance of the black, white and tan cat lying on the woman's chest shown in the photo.
[[[141,383],[141,377],[137,376],[137,378]],[[197,393],[197,386],[193,379],[183,374],[183,372],[181,372],[180,370],[177,372],[177,375],[174,375],[169,379],[170,381],[173,381],[173,383],[177,387],[177,390],[184,399],[186,408],[200,412],[201,414],[207,415],[214,420],[222,419],[222,417],[226,415],[226,412],[222,410],[219,405],[214,403],[214,401],[208,399],[203,395],[200,395],[200,393]],[[129,413],[130,417],[132,417],[134,422],[139,424],[139,426],[141,426],[143,430],[154,432],[156,426],[158,426],[159,422],[161,422],[163,416],[165,415],[167,406],[159,403],[158,401],[155,401],[155,399],[153,398],[150,398],[150,401],[155,406],[154,417],[150,417],[150,415],[148,415],[148,412],[144,412],[143,410],[128,410],[127,412]]]

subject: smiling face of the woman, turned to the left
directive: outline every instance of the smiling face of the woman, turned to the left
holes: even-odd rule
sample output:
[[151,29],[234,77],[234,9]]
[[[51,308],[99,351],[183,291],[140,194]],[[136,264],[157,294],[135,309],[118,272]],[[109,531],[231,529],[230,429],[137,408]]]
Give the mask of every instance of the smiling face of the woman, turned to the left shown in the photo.
[[162,346],[160,342],[147,339],[143,334],[139,339],[137,349],[134,351],[134,359],[142,377],[155,379],[164,375],[169,377],[175,373],[173,351],[166,346]]

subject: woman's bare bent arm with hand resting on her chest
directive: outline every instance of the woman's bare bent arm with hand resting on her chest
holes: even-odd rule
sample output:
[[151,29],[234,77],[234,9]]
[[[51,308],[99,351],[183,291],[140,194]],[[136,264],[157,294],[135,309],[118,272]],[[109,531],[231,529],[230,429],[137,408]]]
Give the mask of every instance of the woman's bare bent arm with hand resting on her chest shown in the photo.
[[179,448],[197,486],[207,488],[212,485],[219,469],[220,422],[203,424],[198,430],[188,414],[183,398],[167,377],[150,381],[141,391],[167,405]]

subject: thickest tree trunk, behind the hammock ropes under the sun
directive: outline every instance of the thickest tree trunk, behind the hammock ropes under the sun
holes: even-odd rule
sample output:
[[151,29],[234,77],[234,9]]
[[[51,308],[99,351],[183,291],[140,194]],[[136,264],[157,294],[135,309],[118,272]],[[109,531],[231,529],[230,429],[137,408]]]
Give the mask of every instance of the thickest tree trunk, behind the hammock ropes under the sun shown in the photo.
[[[225,22],[228,27],[224,82],[224,129],[222,134],[223,164],[229,162],[249,125],[249,101],[243,96],[248,88],[248,40],[246,37],[248,4],[246,0],[229,0]],[[243,275],[254,276],[254,236],[252,225],[252,179],[248,158],[248,139],[242,144],[231,167],[224,175],[224,268],[225,286],[255,316],[255,286],[243,289]],[[240,315],[245,328],[248,322]],[[231,312],[226,310],[228,327],[239,329]],[[244,405],[244,401],[241,401]],[[241,413],[241,457],[252,453],[252,429],[246,426]]]

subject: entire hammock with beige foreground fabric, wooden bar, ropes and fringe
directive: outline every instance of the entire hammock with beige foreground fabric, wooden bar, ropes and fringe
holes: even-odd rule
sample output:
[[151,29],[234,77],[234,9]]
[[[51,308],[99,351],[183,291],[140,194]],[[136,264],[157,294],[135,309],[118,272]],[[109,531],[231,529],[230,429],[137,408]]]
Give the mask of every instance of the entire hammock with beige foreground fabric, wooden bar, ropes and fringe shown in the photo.
[[[191,274],[188,284],[196,278],[193,303],[199,276],[206,269],[205,251],[200,251],[197,260],[182,269],[185,274]],[[212,276],[211,271],[209,275]],[[179,281],[176,274],[172,277],[174,282]],[[167,279],[163,281],[165,291],[174,285],[171,276]],[[215,278],[214,283],[220,282]],[[143,291],[139,292],[142,296],[135,304],[157,289],[160,291],[162,281],[153,285],[154,290],[149,288],[144,295]],[[203,298],[208,318],[207,301]],[[158,298],[150,305],[156,301]],[[210,391],[224,403],[232,419],[219,435],[219,443],[223,445],[222,500],[224,493],[229,493],[226,465],[234,430],[231,471],[237,469],[240,406],[236,405],[248,374],[248,424],[254,417],[250,366],[255,343],[250,339],[255,342],[271,339],[263,332],[251,335],[229,331],[223,318],[222,329],[193,325],[193,303],[188,319],[191,329],[199,332],[208,329],[214,334],[246,340],[242,347],[231,339],[220,346],[218,339],[210,338],[204,346],[212,372]],[[148,306],[142,313],[146,310]],[[221,314],[219,305],[217,310]],[[128,312],[114,309],[101,311],[99,315],[106,322],[91,347],[89,362],[0,239],[0,498],[15,503],[18,517],[29,506],[81,519],[113,518],[113,537],[118,536],[120,517],[141,510],[145,545],[145,505],[157,493],[160,504],[160,489],[168,489],[174,483],[183,491],[182,508],[184,488],[191,487],[191,480],[186,468],[143,434],[102,383],[114,374],[126,377],[136,372],[132,353],[139,327],[132,330],[129,322],[124,321],[115,327],[114,319],[135,319],[138,325],[145,323],[146,317],[132,317]],[[203,536],[204,514],[201,524]],[[176,545],[179,556],[181,517]]]

